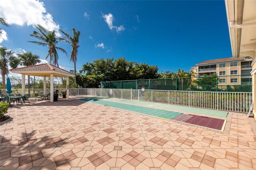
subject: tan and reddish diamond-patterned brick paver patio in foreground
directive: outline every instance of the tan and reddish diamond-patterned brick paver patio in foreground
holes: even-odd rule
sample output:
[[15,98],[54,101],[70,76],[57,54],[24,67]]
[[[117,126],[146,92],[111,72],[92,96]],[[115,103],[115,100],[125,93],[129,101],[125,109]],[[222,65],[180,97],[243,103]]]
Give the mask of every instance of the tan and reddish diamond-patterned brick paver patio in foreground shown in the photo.
[[0,169],[256,169],[256,136],[233,113],[229,132],[84,103],[32,102],[0,126]]

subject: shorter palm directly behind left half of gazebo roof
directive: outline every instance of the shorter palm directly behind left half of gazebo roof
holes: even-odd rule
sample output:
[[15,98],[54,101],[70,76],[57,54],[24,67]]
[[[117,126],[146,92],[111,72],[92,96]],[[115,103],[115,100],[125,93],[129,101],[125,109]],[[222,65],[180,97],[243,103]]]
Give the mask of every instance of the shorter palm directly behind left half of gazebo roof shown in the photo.
[[[32,54],[32,52],[20,53],[18,54],[20,59],[20,64],[23,66],[36,65],[40,63],[39,55]],[[28,75],[28,89],[30,89],[30,76]],[[28,95],[30,95],[30,90],[28,90]]]

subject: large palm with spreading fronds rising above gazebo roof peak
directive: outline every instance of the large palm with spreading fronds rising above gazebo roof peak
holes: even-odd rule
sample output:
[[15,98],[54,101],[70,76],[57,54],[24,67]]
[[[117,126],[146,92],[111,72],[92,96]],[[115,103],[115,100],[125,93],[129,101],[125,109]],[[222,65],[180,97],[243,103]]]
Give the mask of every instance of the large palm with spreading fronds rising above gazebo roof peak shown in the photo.
[[57,47],[56,45],[58,44],[58,42],[64,41],[64,39],[57,38],[55,34],[55,30],[48,31],[46,30],[46,28],[44,28],[41,25],[37,25],[35,27],[39,30],[39,32],[33,31],[33,34],[30,34],[30,36],[38,39],[39,41],[38,42],[28,41],[28,42],[32,42],[37,45],[41,45],[43,47],[48,46],[48,54],[46,55],[45,59],[48,59],[49,57],[49,63],[53,63],[54,65],[57,65],[59,67],[59,64],[58,64],[59,55],[57,51],[61,51],[66,55],[67,55],[67,52],[63,48]]

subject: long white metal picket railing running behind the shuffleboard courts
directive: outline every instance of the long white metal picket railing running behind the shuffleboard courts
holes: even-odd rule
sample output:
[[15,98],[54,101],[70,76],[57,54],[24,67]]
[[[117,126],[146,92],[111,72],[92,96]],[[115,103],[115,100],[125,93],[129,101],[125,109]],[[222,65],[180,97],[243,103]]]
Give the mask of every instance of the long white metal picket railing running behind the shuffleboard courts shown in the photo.
[[[61,90],[66,89],[58,89]],[[21,94],[21,89],[12,89],[13,94]],[[30,89],[30,97],[42,95],[44,89]],[[5,89],[0,89],[6,94]],[[28,89],[26,89],[26,94]],[[50,89],[46,89],[50,93]],[[61,95],[61,93],[59,93]],[[70,96],[93,95],[101,97],[114,97],[120,99],[148,101],[205,109],[234,111],[248,113],[252,103],[252,93],[249,92],[210,92],[210,91],[170,91],[170,90],[134,90],[134,89],[95,89],[77,88],[69,89]]]

